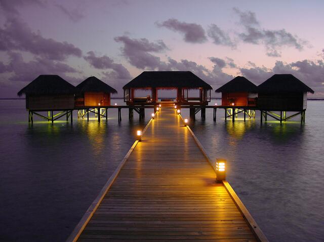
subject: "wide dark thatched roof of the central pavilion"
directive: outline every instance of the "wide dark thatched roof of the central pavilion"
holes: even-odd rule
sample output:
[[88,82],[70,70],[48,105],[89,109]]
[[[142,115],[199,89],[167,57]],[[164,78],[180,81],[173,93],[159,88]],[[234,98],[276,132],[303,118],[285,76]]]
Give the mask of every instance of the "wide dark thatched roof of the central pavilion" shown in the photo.
[[213,89],[191,71],[143,71],[123,88]]

